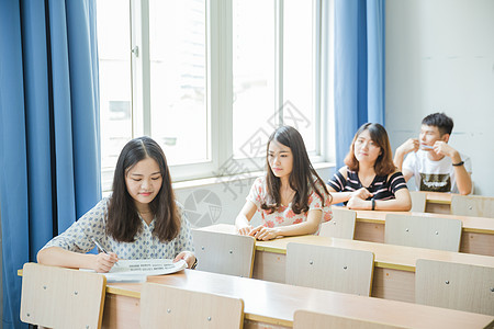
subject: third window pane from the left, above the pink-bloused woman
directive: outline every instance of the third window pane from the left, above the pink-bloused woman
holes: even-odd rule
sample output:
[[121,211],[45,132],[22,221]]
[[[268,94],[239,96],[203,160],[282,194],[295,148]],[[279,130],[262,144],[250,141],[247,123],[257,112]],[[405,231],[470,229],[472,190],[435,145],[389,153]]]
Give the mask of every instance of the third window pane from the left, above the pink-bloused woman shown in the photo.
[[[233,152],[258,155],[274,109],[274,2],[233,1]],[[266,149],[260,147],[261,155]]]

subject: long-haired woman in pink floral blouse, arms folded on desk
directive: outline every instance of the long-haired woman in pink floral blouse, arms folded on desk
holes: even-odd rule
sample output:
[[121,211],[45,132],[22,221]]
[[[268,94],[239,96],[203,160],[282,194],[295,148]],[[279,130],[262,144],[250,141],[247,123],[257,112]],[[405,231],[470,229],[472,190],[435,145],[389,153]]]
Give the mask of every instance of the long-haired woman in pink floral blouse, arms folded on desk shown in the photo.
[[[332,219],[332,196],[308,160],[300,133],[282,126],[268,140],[266,175],[258,178],[236,218],[240,235],[258,240],[317,234]],[[262,224],[250,225],[256,211]]]

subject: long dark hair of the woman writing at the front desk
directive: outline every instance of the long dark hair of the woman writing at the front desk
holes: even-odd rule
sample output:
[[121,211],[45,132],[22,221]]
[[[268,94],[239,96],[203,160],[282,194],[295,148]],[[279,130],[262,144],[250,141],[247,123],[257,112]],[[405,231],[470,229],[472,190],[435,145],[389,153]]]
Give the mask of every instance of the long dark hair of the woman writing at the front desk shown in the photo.
[[113,194],[108,208],[106,234],[121,242],[133,242],[142,229],[134,198],[128,194],[125,177],[134,166],[151,158],[158,163],[162,182],[158,194],[149,203],[149,208],[156,216],[153,235],[161,242],[172,240],[180,231],[180,218],[171,188],[170,171],[161,147],[149,137],[138,137],[128,141],[116,161],[113,177]]

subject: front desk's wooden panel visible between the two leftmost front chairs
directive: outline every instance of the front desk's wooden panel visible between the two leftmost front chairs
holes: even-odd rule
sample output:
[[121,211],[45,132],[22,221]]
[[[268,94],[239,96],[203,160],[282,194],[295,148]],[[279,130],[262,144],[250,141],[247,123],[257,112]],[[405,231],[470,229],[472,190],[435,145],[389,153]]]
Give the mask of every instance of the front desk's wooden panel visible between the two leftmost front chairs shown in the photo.
[[141,299],[106,294],[103,310],[103,329],[141,328]]

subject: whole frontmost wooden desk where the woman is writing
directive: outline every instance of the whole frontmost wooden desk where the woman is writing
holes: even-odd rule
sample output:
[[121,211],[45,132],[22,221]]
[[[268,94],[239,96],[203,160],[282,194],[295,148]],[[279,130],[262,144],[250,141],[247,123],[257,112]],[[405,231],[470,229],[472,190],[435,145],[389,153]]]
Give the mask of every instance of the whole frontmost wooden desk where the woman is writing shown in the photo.
[[[296,309],[325,311],[407,328],[492,328],[494,317],[425,305],[183,270],[148,281],[244,300],[244,328],[290,328]],[[141,284],[106,286],[103,328],[139,328]],[[193,311],[193,310],[191,310]]]

